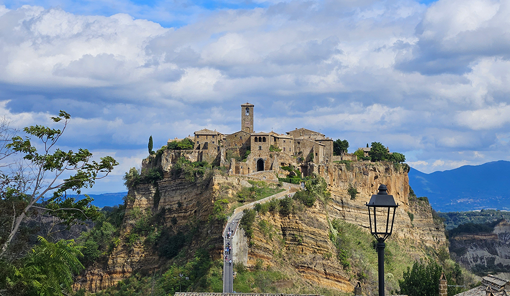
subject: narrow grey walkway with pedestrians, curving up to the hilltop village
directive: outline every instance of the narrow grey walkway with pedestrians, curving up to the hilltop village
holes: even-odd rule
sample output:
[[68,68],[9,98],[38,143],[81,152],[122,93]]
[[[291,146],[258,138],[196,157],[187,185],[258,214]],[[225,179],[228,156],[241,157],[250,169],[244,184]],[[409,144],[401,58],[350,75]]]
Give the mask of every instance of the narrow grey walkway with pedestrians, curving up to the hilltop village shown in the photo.
[[[232,293],[234,290],[234,262],[233,262],[234,260],[232,256],[234,253],[234,249],[232,249],[228,253],[226,253],[225,250],[228,247],[228,245],[234,248],[232,237],[237,234],[239,222],[243,217],[243,210],[247,208],[252,208],[254,205],[258,203],[266,203],[272,199],[283,199],[288,195],[294,196],[294,194],[296,193],[295,190],[296,189],[288,189],[286,191],[282,191],[277,194],[273,194],[271,196],[263,198],[261,200],[254,201],[249,204],[238,207],[234,210],[234,213],[232,214],[230,219],[227,220],[225,229],[223,229],[223,293]],[[229,230],[231,230],[233,234],[230,237],[227,237],[227,233]]]

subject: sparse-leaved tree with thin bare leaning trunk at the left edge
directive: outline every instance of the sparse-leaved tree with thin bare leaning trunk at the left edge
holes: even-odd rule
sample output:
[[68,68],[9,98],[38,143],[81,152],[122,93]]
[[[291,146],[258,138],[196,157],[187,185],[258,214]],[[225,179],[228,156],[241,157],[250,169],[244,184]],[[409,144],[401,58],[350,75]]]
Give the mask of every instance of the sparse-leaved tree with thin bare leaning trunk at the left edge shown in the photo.
[[[99,217],[98,208],[90,204],[90,197],[85,196],[79,200],[72,197],[72,193],[79,195],[82,188],[91,187],[95,180],[106,177],[118,163],[111,156],[101,157],[100,161],[96,162],[92,160],[92,153],[87,149],[66,152],[55,148],[70,118],[68,113],[60,111],[57,117],[51,119],[62,124],[62,129],[42,125],[28,126],[23,128],[28,136],[15,136],[5,146],[14,156],[22,158],[27,167],[21,167],[14,173],[2,167],[0,173],[2,206],[10,205],[12,209],[8,213],[9,219],[3,220],[9,222],[1,227],[8,230],[0,238],[0,258],[5,258],[21,223],[34,209],[44,210],[60,219],[64,225]],[[32,144],[30,137],[36,138],[40,143]],[[38,202],[51,193],[53,196],[45,200],[45,206],[40,206]]]

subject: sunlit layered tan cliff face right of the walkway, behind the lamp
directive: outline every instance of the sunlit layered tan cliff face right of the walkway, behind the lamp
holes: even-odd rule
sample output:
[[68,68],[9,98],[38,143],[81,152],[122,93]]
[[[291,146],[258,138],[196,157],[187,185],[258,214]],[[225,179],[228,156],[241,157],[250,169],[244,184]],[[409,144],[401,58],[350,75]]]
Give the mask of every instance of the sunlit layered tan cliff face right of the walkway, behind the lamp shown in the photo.
[[[340,219],[369,232],[365,203],[377,193],[380,184],[387,185],[399,204],[391,241],[401,245],[406,255],[415,259],[424,257],[430,250],[445,248],[444,227],[433,221],[428,203],[409,201],[409,179],[402,168],[395,169],[392,164],[352,163],[326,167],[321,175],[329,184],[331,201],[327,204],[317,201],[312,208],[297,215],[266,214],[267,217],[260,217],[271,224],[269,228],[274,229],[275,235],[283,239],[270,239],[267,227],[266,230],[259,227],[250,241],[249,266],[257,264],[257,260],[269,266],[278,264],[282,255],[277,250],[285,249],[287,256],[295,256],[288,262],[302,278],[322,287],[352,291],[357,279],[336,258],[336,247],[329,239],[330,223]],[[351,199],[347,192],[349,185],[359,192],[355,199]]]

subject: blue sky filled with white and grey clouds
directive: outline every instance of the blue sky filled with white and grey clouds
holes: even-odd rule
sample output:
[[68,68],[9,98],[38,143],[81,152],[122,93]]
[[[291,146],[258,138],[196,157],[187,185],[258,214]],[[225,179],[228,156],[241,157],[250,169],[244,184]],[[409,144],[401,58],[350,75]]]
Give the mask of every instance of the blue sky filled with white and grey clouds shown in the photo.
[[60,147],[120,163],[91,194],[245,102],[430,173],[510,160],[509,57],[509,1],[0,0],[0,115],[71,114]]

